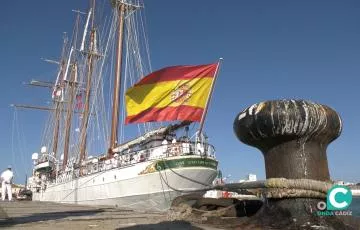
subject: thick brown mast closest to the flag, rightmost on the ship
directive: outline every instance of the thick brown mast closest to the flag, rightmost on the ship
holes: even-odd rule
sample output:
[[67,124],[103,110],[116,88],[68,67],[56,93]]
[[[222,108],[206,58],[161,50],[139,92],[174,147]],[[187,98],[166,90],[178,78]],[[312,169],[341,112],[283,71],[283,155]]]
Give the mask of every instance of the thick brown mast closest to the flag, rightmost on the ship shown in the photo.
[[115,79],[114,79],[114,93],[113,93],[113,106],[112,106],[112,119],[111,119],[111,136],[110,136],[110,148],[109,156],[112,154],[112,149],[117,144],[117,133],[119,123],[119,107],[120,107],[120,89],[121,89],[121,60],[122,60],[122,44],[124,34],[124,15],[125,15],[125,3],[122,1],[116,2],[118,10],[118,40],[116,47],[116,65],[115,65]]

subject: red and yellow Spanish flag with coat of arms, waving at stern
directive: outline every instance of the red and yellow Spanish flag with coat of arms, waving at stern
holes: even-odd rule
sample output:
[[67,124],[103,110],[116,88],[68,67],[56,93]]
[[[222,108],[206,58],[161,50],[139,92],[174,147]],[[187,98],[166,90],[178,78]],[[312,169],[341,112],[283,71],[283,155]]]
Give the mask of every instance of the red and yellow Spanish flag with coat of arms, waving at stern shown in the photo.
[[126,124],[200,121],[218,63],[171,66],[142,78],[126,91]]

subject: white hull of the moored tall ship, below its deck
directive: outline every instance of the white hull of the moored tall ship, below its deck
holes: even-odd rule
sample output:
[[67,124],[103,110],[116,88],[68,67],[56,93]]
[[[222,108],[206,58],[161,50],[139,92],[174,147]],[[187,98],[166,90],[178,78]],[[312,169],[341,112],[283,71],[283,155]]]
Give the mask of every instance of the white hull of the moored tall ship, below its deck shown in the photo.
[[216,177],[215,160],[205,159],[214,162],[212,167],[205,164],[182,167],[185,161],[187,164],[205,162],[204,158],[196,156],[175,157],[171,160],[175,162],[175,167],[145,174],[141,172],[154,161],[49,184],[46,189],[33,192],[33,200],[164,211],[175,197],[183,194],[181,191],[204,188]]

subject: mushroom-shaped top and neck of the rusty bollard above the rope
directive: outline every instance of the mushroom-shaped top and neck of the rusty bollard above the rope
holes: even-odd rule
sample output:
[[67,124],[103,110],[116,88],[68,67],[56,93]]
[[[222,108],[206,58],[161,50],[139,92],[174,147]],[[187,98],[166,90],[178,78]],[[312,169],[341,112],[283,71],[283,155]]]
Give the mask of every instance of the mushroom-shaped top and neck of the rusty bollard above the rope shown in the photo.
[[267,178],[329,180],[326,148],[341,129],[334,110],[303,100],[261,102],[234,122],[240,141],[262,151]]

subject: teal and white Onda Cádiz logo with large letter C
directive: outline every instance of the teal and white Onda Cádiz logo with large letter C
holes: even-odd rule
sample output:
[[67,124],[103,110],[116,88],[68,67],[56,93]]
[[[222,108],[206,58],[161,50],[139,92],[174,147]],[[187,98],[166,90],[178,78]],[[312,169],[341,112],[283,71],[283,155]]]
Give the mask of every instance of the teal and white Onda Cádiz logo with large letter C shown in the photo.
[[352,211],[347,210],[352,201],[351,190],[346,186],[335,185],[326,196],[326,203],[320,201],[317,204],[318,216],[351,216]]

